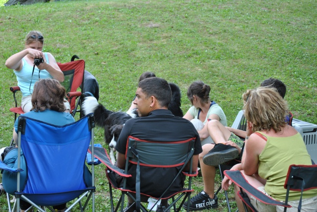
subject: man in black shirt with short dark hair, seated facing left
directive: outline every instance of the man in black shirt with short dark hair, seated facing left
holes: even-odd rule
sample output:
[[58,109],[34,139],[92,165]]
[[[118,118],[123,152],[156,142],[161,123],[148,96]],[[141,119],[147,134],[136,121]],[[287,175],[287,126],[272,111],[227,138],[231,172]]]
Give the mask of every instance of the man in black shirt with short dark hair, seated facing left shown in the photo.
[[[168,110],[172,92],[167,81],[158,77],[144,79],[139,82],[135,96],[136,98],[133,103],[137,106],[139,117],[127,120],[120,134],[116,146],[118,154],[117,166],[125,168],[128,136],[146,141],[160,142],[185,141],[195,138],[192,165],[192,171],[195,172],[198,165],[198,155],[202,152],[199,135],[190,121],[182,117],[176,117]],[[135,165],[132,164],[131,166],[131,168],[129,167],[129,173],[135,176],[135,167],[133,167]],[[152,168],[151,172],[144,169],[140,176],[141,192],[150,194],[153,197],[159,197],[165,190],[162,184],[165,181],[169,181],[170,176],[172,178],[175,176],[174,173],[170,172],[170,169],[166,173],[164,173],[164,168],[155,168],[154,170]],[[175,173],[178,170],[176,167]],[[189,164],[185,168],[185,171],[189,171]],[[132,179],[127,180],[127,188],[133,189],[135,187],[135,178],[130,178]],[[180,175],[173,183],[170,191],[173,191],[173,187],[177,189],[180,186],[184,186],[183,175]],[[128,204],[132,203],[132,200],[128,199]],[[167,201],[165,203],[162,201],[161,207],[167,207]]]

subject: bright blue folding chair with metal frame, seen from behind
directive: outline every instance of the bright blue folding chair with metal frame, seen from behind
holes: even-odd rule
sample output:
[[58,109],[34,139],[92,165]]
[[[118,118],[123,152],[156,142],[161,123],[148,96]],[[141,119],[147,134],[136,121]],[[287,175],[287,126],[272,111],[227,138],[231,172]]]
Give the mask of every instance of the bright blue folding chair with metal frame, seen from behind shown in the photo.
[[[17,168],[1,164],[0,168],[17,172],[17,191],[14,192],[16,204],[13,211],[19,211],[20,199],[28,202],[40,212],[43,207],[55,212],[51,206],[74,200],[65,212],[79,204],[83,212],[92,199],[92,212],[95,210],[94,162],[92,182],[84,181],[85,158],[91,142],[94,150],[94,116],[88,114],[80,120],[64,126],[56,126],[32,118],[19,116]],[[21,149],[26,162],[27,177],[20,190]],[[93,156],[91,156],[93,157]],[[94,161],[91,159],[91,161]],[[87,183],[88,184],[88,183]],[[81,200],[86,198],[84,205]],[[10,203],[9,210],[11,210]],[[76,209],[77,211],[77,209]]]

